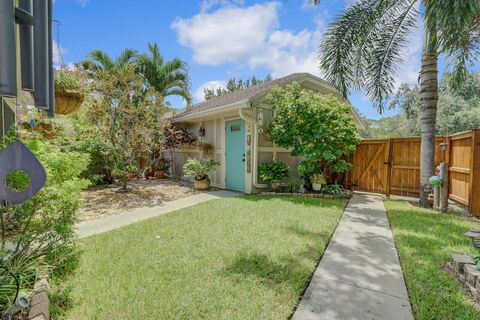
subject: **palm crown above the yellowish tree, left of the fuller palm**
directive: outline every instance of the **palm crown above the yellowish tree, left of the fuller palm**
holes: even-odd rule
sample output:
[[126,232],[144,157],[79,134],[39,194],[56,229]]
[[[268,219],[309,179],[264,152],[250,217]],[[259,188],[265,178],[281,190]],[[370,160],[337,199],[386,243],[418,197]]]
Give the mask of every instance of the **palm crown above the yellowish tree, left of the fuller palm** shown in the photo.
[[93,50],[87,55],[88,59],[82,61],[80,66],[83,70],[90,73],[102,71],[112,71],[122,69],[128,65],[132,65],[138,57],[138,52],[133,49],[124,49],[119,56],[111,58],[102,50]]

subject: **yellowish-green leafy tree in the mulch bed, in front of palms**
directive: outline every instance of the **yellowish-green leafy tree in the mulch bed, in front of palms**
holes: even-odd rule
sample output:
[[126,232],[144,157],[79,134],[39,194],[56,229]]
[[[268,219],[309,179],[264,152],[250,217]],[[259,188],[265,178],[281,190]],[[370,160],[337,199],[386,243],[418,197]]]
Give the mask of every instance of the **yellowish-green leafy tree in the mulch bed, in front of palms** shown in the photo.
[[98,98],[87,115],[107,142],[113,175],[126,191],[128,180],[139,174],[139,159],[160,143],[155,137],[163,125],[163,100],[145,89],[133,66],[99,72],[94,90]]

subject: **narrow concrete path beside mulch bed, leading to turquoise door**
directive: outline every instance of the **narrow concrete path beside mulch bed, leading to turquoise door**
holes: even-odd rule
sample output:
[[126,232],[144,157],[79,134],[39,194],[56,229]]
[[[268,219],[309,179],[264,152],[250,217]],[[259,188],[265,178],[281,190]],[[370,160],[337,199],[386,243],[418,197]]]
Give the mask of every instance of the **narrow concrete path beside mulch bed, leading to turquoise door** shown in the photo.
[[94,234],[117,229],[138,221],[160,216],[171,211],[187,208],[202,202],[235,197],[238,195],[238,192],[227,190],[199,193],[183,199],[166,202],[165,204],[157,207],[139,208],[130,212],[125,212],[102,219],[81,222],[75,226],[75,229],[79,238],[85,238]]

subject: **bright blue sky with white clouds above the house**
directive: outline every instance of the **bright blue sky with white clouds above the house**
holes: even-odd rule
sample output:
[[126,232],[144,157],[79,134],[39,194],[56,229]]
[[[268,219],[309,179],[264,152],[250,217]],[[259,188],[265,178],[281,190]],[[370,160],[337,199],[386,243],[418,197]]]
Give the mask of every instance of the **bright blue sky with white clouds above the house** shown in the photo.
[[[145,52],[149,42],[157,42],[165,58],[188,63],[199,102],[202,88],[221,86],[232,77],[321,76],[318,44],[328,23],[351,1],[313,7],[307,0],[55,0],[54,19],[61,22],[58,42],[65,63],[81,61],[94,49],[116,56],[124,48]],[[418,31],[398,69],[398,84],[416,83],[420,53]],[[169,100],[175,107],[184,105],[181,99]],[[381,117],[363,92],[350,100],[367,117]]]

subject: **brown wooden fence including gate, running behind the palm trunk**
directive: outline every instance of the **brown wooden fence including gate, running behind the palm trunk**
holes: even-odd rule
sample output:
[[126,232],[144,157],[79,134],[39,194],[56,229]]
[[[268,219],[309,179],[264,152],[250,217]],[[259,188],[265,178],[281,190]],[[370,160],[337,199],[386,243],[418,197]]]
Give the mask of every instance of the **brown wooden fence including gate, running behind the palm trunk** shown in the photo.
[[[449,164],[449,198],[480,216],[480,129],[439,136],[435,164]],[[363,140],[346,184],[354,190],[418,197],[420,137]]]

